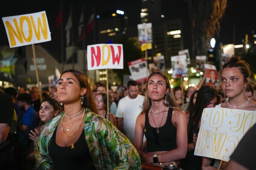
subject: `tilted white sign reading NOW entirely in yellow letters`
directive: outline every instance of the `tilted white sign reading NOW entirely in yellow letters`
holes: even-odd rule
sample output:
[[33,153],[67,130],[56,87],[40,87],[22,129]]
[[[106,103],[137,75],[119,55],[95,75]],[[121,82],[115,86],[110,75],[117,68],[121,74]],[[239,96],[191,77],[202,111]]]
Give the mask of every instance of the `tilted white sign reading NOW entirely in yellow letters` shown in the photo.
[[2,19],[10,48],[51,40],[45,11]]

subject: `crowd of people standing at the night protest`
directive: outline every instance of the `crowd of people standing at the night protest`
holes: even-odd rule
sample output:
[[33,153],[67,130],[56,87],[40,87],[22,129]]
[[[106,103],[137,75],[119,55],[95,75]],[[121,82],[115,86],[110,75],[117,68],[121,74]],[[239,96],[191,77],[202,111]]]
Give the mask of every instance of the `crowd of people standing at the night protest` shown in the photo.
[[165,73],[152,72],[145,84],[131,80],[113,90],[66,70],[42,102],[36,86],[0,88],[0,169],[253,169],[248,153],[255,149],[247,143],[255,145],[255,126],[229,163],[194,155],[204,108],[256,110],[250,74],[249,64],[233,56],[220,72],[221,86],[204,85],[203,75],[197,86],[171,89]]

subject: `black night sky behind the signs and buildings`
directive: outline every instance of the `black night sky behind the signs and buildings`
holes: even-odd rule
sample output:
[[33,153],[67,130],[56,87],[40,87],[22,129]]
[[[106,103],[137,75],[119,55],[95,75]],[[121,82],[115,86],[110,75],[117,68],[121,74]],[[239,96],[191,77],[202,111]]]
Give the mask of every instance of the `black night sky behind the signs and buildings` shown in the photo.
[[[190,18],[188,13],[188,0],[162,0],[162,14],[166,19],[182,18],[184,26],[184,48],[190,48]],[[82,11],[82,3],[85,4],[85,23],[93,13],[96,4],[96,14],[108,10],[124,10],[129,16],[129,26],[136,26],[140,22],[140,0],[74,0],[75,25],[78,25]],[[227,9],[221,20],[221,31],[217,39],[223,44],[233,43],[233,28],[235,28],[235,44],[241,44],[245,34],[256,30],[256,1],[255,0],[228,0]],[[55,23],[60,9],[60,0],[4,0],[0,5],[0,17],[8,17],[21,14],[46,11],[50,27],[51,38],[49,42],[41,43],[46,49],[56,54],[60,61],[60,37]],[[64,23],[67,22],[70,11],[70,1],[64,2]],[[64,34],[65,35],[65,34]],[[75,33],[77,35],[77,32]],[[77,36],[76,36],[77,37]],[[88,36],[87,44],[91,44]],[[0,21],[0,46],[8,45],[6,30],[3,20]]]

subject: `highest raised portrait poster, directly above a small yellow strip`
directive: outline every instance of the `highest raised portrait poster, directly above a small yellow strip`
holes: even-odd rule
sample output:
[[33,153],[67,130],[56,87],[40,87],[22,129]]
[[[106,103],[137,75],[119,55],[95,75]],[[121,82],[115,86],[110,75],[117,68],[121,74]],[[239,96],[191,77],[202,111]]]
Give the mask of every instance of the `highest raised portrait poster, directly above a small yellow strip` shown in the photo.
[[138,42],[143,43],[152,43],[152,23],[143,23],[138,24]]

